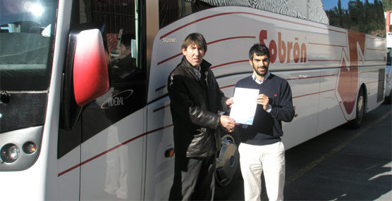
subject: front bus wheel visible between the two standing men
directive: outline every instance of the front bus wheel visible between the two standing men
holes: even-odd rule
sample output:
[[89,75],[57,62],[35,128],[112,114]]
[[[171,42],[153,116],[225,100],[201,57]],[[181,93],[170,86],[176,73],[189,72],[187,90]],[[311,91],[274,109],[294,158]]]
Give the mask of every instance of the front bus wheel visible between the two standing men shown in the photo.
[[238,183],[240,174],[240,143],[236,131],[223,133],[221,149],[216,158],[215,196],[214,200],[226,200]]

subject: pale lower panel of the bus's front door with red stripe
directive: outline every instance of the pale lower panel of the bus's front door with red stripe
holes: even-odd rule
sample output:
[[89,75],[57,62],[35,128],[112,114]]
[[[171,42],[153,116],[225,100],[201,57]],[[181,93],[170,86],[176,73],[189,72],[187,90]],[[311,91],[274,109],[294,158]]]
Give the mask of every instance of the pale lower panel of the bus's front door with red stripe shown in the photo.
[[80,200],[142,199],[145,111],[137,110],[82,143]]

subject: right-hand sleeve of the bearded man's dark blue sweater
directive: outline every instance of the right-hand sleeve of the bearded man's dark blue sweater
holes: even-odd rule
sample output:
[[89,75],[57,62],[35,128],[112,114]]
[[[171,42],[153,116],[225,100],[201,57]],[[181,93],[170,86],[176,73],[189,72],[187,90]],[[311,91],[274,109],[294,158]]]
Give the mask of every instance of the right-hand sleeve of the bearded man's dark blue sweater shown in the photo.
[[291,122],[294,118],[295,111],[293,108],[293,97],[291,95],[290,85],[286,80],[281,84],[281,97],[276,105],[271,109],[271,116],[283,122]]

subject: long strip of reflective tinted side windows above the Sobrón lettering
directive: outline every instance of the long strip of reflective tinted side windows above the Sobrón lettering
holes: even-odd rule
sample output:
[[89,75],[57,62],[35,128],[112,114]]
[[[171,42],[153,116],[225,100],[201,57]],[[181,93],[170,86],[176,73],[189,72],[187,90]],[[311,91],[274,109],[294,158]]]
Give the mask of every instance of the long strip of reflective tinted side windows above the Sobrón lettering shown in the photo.
[[302,20],[385,37],[384,8],[380,0],[228,1],[159,0],[159,28],[180,18],[216,6],[257,8]]

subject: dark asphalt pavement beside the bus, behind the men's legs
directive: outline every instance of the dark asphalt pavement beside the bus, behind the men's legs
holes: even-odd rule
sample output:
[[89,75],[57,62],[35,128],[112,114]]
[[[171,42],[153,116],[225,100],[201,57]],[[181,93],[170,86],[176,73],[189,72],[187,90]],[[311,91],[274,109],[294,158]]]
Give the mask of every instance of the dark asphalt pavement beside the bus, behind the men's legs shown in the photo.
[[[360,129],[338,127],[286,150],[284,200],[392,200],[391,117],[382,104]],[[228,200],[244,200],[241,177]]]

